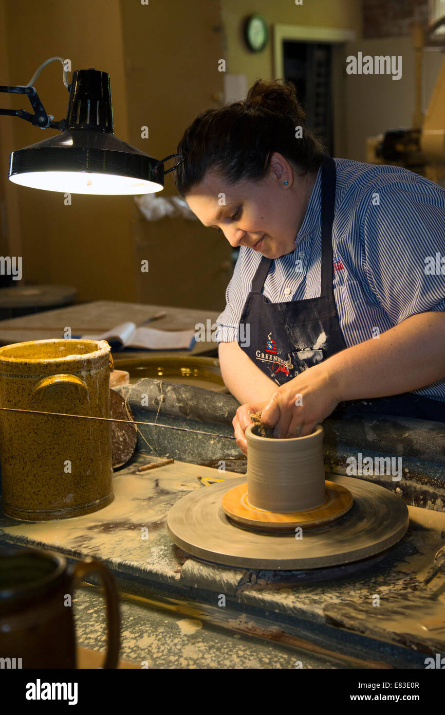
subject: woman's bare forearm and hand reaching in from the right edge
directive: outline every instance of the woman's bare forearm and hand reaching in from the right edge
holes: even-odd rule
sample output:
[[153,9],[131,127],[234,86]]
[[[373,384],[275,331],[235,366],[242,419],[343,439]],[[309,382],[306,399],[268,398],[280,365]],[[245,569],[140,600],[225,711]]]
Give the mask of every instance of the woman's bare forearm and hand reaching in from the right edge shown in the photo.
[[399,395],[443,379],[444,355],[445,313],[411,315],[381,333],[379,340],[346,347],[304,370],[266,402],[241,405],[232,422],[236,443],[246,454],[249,411],[262,410],[261,420],[274,428],[274,437],[304,437],[339,402]]

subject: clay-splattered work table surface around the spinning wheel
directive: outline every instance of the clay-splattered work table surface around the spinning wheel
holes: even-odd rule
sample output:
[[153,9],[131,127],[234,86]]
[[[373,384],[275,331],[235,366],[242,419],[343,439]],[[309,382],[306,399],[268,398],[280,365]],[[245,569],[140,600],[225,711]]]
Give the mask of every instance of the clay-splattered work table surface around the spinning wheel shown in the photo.
[[[228,633],[269,638],[277,647],[303,647],[334,659],[337,667],[424,668],[428,654],[445,651],[445,576],[421,588],[445,541],[445,513],[409,507],[411,525],[399,544],[366,568],[362,563],[319,570],[317,581],[309,571],[214,566],[174,546],[166,516],[186,493],[209,488],[199,477],[239,474],[177,461],[136,472],[138,464],[151,460],[138,453],[119,470],[114,501],[96,513],[35,524],[2,516],[0,548],[38,546],[71,559],[101,558],[123,593]],[[376,596],[379,606],[373,605]],[[125,652],[123,657],[129,659]]]

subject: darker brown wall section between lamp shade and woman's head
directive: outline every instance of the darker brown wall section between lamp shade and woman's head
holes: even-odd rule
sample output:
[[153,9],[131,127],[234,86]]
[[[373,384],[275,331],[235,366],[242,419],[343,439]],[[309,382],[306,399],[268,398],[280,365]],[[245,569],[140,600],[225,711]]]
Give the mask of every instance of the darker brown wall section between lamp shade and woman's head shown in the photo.
[[[121,3],[129,142],[157,159],[176,151],[197,114],[219,106],[214,95],[223,89],[221,33],[213,29],[220,23],[219,3],[193,0],[192,6],[182,0]],[[149,139],[141,139],[144,125]],[[159,195],[172,194],[174,172]],[[139,300],[222,310],[232,272],[224,235],[182,218],[147,221],[135,205],[131,217],[137,258],[149,261],[149,272],[138,274]]]

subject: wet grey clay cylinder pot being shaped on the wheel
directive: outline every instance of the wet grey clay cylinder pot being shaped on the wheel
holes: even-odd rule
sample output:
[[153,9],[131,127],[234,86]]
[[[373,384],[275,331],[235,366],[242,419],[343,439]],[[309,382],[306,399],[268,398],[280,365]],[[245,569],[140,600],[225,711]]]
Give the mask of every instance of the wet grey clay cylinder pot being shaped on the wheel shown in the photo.
[[260,437],[257,425],[246,429],[247,493],[251,506],[293,513],[326,501],[323,428],[289,439]]

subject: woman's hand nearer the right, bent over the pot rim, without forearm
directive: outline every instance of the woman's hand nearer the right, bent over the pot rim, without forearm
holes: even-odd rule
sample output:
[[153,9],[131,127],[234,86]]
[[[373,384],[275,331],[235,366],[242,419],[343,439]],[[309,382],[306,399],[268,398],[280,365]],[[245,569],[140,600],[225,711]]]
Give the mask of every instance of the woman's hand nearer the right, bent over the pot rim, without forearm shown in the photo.
[[274,437],[304,437],[310,435],[340,401],[337,380],[324,363],[319,363],[271,395],[261,422],[274,428]]

